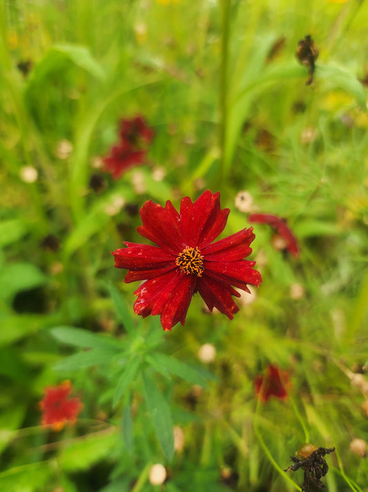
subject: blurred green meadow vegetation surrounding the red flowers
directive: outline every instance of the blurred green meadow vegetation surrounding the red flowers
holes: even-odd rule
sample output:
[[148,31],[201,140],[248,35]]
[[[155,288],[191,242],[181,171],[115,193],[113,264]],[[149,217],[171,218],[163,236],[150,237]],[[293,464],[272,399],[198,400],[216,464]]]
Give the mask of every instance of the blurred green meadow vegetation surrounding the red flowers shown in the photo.
[[[368,359],[367,22],[364,0],[0,2],[1,490],[300,491],[302,472],[282,469],[309,441],[336,446],[330,492],[368,491],[350,447],[368,439],[356,377]],[[308,34],[311,86],[295,57]],[[114,181],[101,157],[136,114],[155,138],[146,164]],[[229,321],[195,296],[185,326],[164,333],[134,315],[137,286],[110,251],[141,242],[147,199],[177,206],[206,188],[231,208],[226,235],[249,225],[235,208],[247,190],[255,210],[287,218],[300,257],[256,225],[253,302]],[[263,404],[253,379],[269,363],[292,387]],[[84,410],[52,432],[38,402],[65,379]],[[155,463],[164,484],[149,480]]]

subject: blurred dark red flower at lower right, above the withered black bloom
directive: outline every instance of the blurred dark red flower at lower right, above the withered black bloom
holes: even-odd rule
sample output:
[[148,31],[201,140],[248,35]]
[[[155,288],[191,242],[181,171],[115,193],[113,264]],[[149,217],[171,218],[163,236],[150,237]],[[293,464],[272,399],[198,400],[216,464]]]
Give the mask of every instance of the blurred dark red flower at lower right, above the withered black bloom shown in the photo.
[[284,400],[290,387],[289,374],[273,364],[267,365],[264,376],[258,375],[254,379],[255,396],[264,402],[269,397]]

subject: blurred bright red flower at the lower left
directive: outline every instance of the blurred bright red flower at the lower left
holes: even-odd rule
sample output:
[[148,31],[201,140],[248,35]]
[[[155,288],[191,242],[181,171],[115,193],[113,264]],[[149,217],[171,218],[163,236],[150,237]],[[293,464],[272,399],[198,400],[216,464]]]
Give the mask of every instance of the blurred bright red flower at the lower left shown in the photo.
[[83,408],[83,403],[79,398],[68,398],[70,392],[72,392],[70,381],[64,381],[56,387],[45,388],[45,396],[39,403],[43,426],[61,430],[67,422],[75,423],[77,415]]

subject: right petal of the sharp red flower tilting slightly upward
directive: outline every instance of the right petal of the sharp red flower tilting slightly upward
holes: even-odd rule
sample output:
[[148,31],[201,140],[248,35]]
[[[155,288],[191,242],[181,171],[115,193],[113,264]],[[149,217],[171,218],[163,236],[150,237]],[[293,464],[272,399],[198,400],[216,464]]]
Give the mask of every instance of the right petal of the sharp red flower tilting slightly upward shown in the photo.
[[234,262],[250,255],[252,248],[249,245],[254,238],[252,227],[242,229],[238,233],[202,248],[201,253],[211,262]]

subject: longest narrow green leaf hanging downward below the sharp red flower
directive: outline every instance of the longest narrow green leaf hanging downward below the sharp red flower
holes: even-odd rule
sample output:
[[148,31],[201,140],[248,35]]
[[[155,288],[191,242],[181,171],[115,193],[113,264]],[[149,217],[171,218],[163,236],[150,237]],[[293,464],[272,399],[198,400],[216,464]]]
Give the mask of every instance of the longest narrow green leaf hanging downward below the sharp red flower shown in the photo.
[[143,383],[148,411],[151,414],[159,444],[161,444],[166,458],[171,461],[174,455],[174,434],[170,407],[146,373],[143,373]]

